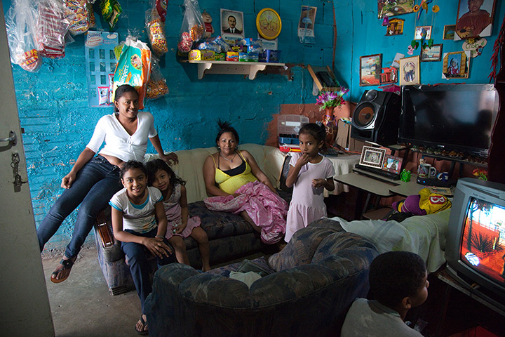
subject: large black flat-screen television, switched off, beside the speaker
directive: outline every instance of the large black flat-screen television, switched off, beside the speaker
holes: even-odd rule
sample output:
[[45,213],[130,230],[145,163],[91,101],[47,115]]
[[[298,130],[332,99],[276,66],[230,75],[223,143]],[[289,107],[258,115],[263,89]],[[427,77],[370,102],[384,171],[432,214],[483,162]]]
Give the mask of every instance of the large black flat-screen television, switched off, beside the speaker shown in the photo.
[[487,157],[498,103],[492,84],[403,86],[398,143]]

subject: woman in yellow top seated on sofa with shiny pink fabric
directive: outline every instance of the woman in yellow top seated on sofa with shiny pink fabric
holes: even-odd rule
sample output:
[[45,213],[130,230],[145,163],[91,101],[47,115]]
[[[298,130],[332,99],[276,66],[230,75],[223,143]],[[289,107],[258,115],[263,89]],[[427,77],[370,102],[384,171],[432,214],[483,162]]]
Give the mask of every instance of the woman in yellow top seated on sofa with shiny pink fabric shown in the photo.
[[218,121],[217,152],[203,164],[203,180],[209,195],[208,209],[240,213],[261,233],[262,242],[275,244],[285,233],[288,203],[248,151],[237,150],[238,133],[227,122]]

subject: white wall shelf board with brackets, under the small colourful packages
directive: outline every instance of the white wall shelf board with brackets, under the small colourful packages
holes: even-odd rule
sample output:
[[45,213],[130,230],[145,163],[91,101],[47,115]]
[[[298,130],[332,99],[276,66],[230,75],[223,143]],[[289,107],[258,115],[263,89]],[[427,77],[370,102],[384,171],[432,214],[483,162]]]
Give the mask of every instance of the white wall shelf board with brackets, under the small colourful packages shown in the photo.
[[198,79],[203,79],[206,74],[243,74],[249,75],[249,79],[255,79],[257,72],[267,67],[285,67],[284,63],[274,62],[234,62],[234,61],[194,61],[181,60],[183,63],[198,65]]

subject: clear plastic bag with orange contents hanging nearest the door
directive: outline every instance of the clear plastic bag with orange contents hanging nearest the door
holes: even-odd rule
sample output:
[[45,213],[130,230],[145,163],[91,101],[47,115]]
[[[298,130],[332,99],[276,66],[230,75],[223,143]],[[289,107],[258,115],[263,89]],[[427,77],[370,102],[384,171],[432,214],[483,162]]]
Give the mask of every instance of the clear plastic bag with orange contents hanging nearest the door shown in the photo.
[[6,28],[11,62],[29,72],[37,72],[42,64],[36,50],[36,10],[30,0],[15,0],[6,15]]

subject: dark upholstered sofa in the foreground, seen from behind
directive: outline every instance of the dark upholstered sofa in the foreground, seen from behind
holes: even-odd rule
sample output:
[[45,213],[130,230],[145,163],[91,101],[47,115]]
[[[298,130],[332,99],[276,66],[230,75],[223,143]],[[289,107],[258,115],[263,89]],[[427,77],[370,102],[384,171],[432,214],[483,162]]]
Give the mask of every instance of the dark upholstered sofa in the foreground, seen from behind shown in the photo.
[[322,218],[285,248],[250,261],[265,276],[231,278],[243,263],[201,273],[173,263],[154,275],[146,300],[152,336],[339,336],[349,306],[368,293],[378,255],[360,235]]

